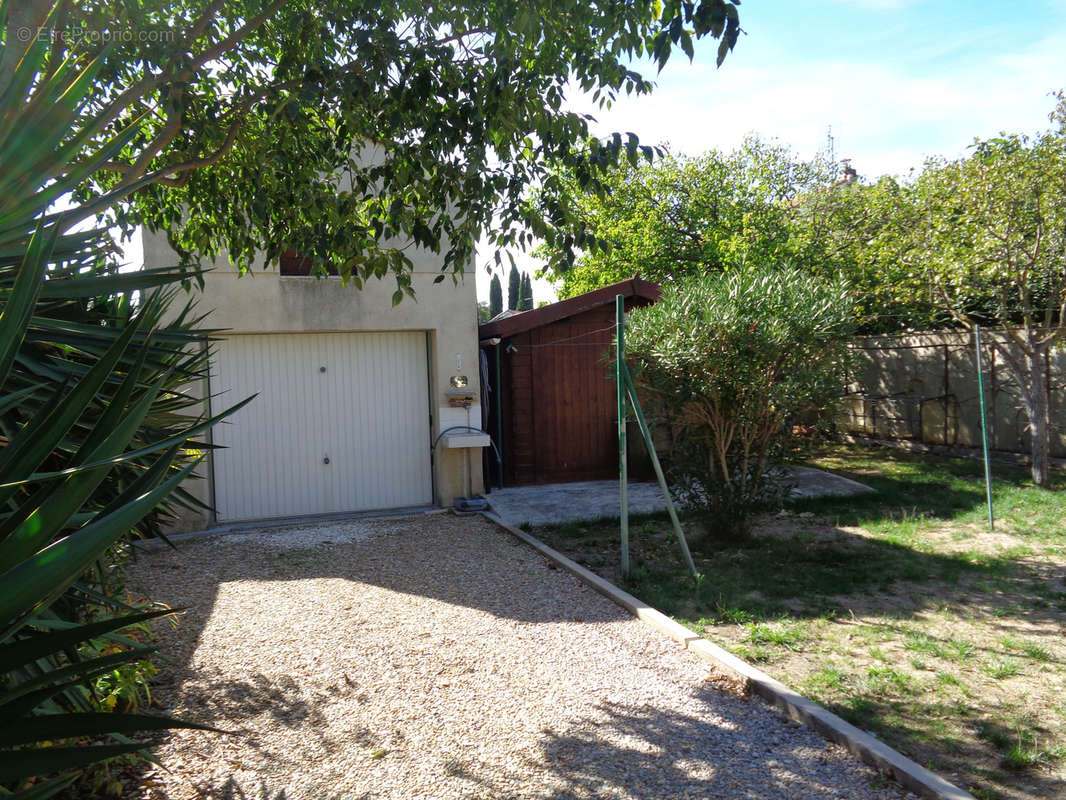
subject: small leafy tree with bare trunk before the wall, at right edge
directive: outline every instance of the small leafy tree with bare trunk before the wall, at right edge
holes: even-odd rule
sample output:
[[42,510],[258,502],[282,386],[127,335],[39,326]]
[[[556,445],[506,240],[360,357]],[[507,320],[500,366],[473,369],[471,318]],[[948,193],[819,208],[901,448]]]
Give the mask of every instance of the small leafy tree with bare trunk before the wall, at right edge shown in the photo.
[[1018,385],[1041,486],[1051,481],[1046,358],[1066,337],[1062,96],[1052,121],[1035,137],[979,141],[968,158],[925,165],[914,187],[916,224],[902,237],[912,279],[900,286],[966,330],[1004,329],[990,343]]

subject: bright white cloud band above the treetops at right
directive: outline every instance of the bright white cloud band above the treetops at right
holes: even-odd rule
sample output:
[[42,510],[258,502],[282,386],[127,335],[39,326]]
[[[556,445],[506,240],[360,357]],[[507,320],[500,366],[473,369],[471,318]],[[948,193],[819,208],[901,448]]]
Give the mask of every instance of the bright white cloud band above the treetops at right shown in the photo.
[[597,114],[599,130],[635,130],[644,142],[668,141],[685,153],[729,148],[756,131],[811,155],[831,125],[837,154],[860,172],[905,173],[925,156],[963,153],[974,137],[1045,127],[1048,93],[1066,81],[1066,36],[939,75],[906,67],[682,65],[650,97],[623,98]]

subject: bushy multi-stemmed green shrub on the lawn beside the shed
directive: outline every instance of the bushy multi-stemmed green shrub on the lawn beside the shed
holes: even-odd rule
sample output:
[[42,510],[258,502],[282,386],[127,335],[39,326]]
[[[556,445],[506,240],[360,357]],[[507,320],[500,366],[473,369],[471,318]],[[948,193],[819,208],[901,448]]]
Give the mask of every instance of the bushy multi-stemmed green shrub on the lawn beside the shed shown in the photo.
[[737,539],[785,491],[791,423],[840,397],[853,303],[843,283],[791,269],[716,273],[634,311],[627,354],[649,413],[668,426],[683,506]]

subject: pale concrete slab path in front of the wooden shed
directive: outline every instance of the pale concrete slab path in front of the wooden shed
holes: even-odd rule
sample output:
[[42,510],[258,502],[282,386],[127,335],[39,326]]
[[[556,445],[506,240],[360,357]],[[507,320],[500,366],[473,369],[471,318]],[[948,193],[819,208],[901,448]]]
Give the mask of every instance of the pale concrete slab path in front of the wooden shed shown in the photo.
[[[874,490],[865,483],[813,467],[790,466],[795,498],[844,497]],[[497,489],[488,495],[492,510],[513,525],[554,525],[618,516],[618,481],[548,483],[542,486]],[[629,512],[653,514],[666,510],[658,483],[629,484]]]

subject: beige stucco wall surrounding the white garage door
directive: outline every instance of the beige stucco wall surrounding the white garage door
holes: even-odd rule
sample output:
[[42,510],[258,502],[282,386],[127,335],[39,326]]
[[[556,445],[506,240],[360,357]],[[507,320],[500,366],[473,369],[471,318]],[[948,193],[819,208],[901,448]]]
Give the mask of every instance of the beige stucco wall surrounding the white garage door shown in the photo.
[[[175,263],[177,256],[161,234],[144,234],[145,267]],[[433,402],[433,438],[456,425],[480,427],[481,407],[469,412],[448,405],[450,379],[464,374],[469,388],[480,397],[478,362],[477,293],[472,271],[457,284],[449,277],[439,284],[440,256],[427,251],[407,251],[414,262],[411,285],[417,300],[406,298],[392,306],[395,283],[391,278],[371,279],[362,289],[344,286],[337,277],[281,276],[276,268],[255,269],[243,276],[225,260],[207,260],[204,289],[193,289],[200,313],[210,310],[204,324],[232,333],[290,333],[344,331],[425,331],[430,340],[430,390]],[[462,367],[457,369],[457,358]],[[193,387],[203,393],[203,387]],[[239,422],[235,422],[239,423]],[[429,449],[430,443],[426,443]],[[434,455],[435,501],[450,506],[455,497],[484,491],[481,451],[469,459],[458,449],[438,447]],[[464,467],[464,464],[467,466]],[[204,479],[185,489],[211,503],[210,465],[201,469]],[[464,475],[466,473],[466,475]],[[195,530],[212,524],[209,514],[189,513],[179,529]]]

